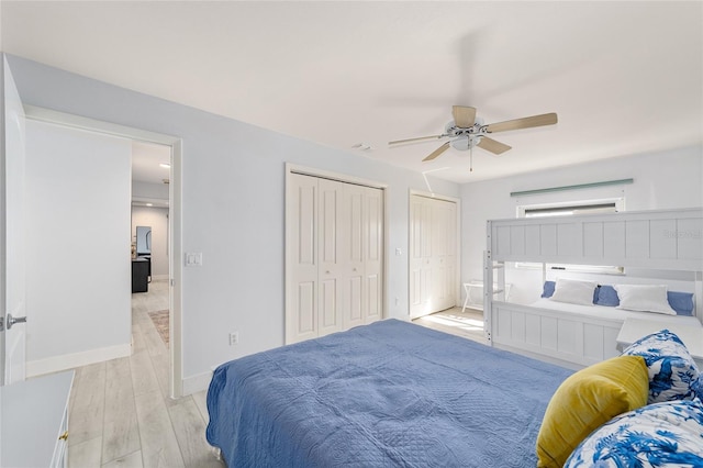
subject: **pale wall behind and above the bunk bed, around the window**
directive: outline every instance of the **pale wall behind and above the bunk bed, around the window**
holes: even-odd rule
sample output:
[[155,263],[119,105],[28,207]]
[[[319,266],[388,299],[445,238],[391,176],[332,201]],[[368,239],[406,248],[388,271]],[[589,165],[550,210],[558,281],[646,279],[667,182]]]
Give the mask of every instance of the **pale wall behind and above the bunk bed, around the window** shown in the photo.
[[[703,148],[623,156],[505,179],[461,186],[461,281],[483,275],[486,222],[516,216],[516,207],[598,199],[625,199],[627,211],[703,207]],[[511,192],[607,180],[634,179],[632,185],[559,191],[511,198]],[[506,272],[515,283],[511,300],[529,303],[540,292],[542,271]],[[512,281],[511,281],[512,278]],[[621,281],[622,282],[622,281]]]

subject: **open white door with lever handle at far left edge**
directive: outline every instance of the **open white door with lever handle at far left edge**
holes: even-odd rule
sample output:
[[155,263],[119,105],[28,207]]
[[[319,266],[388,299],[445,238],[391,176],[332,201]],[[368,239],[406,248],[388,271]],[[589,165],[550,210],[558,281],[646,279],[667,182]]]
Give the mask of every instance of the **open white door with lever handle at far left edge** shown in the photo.
[[24,380],[25,376],[25,248],[24,248],[24,110],[5,57],[2,58],[3,130],[2,186],[0,202],[2,255],[0,290],[2,290],[2,383]]

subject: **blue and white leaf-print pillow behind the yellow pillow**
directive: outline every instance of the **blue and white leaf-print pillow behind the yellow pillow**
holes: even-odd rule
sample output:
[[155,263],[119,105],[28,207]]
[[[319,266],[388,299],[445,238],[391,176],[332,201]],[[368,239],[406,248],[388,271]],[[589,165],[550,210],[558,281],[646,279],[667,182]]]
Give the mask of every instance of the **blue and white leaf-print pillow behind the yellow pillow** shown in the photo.
[[668,330],[629,345],[624,355],[641,356],[649,372],[648,403],[692,400],[699,390],[699,368],[681,339]]

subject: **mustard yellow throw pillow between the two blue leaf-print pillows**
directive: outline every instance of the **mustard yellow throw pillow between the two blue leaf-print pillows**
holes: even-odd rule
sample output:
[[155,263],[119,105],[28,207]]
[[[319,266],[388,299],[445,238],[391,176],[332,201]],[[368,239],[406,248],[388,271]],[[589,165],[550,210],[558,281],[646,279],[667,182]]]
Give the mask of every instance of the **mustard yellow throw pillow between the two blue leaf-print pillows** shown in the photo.
[[644,406],[648,392],[649,376],[641,356],[613,357],[571,375],[547,405],[537,435],[537,466],[561,468],[598,427]]

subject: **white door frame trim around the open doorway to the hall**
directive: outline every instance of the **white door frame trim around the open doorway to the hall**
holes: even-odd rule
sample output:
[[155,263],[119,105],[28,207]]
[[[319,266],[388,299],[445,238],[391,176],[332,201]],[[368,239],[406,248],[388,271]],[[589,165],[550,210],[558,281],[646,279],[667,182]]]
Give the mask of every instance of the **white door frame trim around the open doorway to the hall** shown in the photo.
[[[100,122],[88,118],[78,115],[65,114],[46,109],[34,108],[31,105],[25,107],[27,120],[34,120],[43,123],[54,124],[74,130],[85,131],[86,133],[92,132],[93,134],[110,135],[118,138],[124,138],[129,142],[145,142],[148,144],[161,145],[168,148],[170,152],[170,168],[167,170],[168,178],[168,219],[167,219],[167,264],[168,272],[164,278],[166,288],[168,290],[168,319],[169,319],[169,352],[168,352],[168,376],[169,376],[169,393],[174,398],[178,398],[182,394],[182,372],[181,361],[182,352],[180,346],[181,336],[181,268],[180,263],[176,259],[181,257],[181,199],[180,199],[180,168],[181,168],[181,143],[180,140],[170,135],[163,135],[153,132],[142,131],[138,129],[125,127],[108,122]],[[127,176],[129,177],[129,176]],[[131,185],[130,180],[126,180],[127,186]],[[130,223],[127,220],[126,223]],[[126,237],[130,233],[130,227],[124,226],[125,233],[125,249],[130,249],[130,238]],[[126,254],[126,252],[125,252]],[[122,257],[124,260],[129,258],[127,255]],[[125,266],[129,275],[129,265]],[[127,287],[129,288],[129,287]],[[129,344],[127,344],[129,346]],[[75,363],[76,367],[88,363]]]

